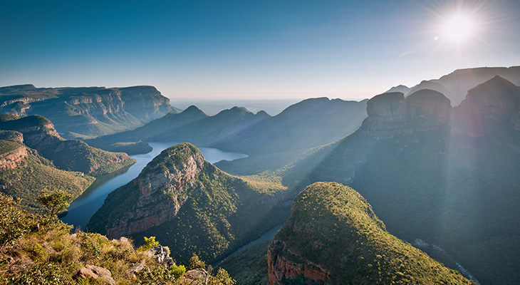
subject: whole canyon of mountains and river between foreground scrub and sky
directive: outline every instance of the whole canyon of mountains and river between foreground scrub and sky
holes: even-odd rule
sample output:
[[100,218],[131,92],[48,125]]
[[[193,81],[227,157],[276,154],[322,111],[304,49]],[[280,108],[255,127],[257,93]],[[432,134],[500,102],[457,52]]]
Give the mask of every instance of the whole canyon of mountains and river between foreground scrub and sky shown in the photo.
[[[518,75],[459,70],[366,100],[310,98],[276,115],[163,108],[142,86],[0,88],[11,106],[0,117],[1,192],[43,213],[43,188],[66,190],[75,198],[66,224],[136,246],[154,237],[179,264],[194,254],[222,261],[240,284],[515,284]],[[76,105],[143,98],[142,111],[120,105],[140,123],[71,135],[73,120],[13,105],[79,90]]]

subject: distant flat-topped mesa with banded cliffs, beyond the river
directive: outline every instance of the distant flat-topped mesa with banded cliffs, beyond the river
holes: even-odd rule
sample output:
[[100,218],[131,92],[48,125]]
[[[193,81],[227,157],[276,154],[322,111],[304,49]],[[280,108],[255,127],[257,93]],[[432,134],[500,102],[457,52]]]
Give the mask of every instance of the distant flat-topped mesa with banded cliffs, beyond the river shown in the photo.
[[137,128],[175,111],[152,86],[128,88],[0,88],[0,113],[43,115],[68,137],[98,136]]

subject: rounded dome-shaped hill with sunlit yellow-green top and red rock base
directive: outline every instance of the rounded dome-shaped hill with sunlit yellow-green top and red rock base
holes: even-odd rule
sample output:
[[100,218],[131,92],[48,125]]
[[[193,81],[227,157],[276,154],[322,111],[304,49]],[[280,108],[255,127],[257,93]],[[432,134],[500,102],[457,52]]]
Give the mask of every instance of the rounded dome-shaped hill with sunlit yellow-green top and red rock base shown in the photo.
[[268,249],[269,284],[473,284],[386,232],[350,187],[318,182],[298,194]]

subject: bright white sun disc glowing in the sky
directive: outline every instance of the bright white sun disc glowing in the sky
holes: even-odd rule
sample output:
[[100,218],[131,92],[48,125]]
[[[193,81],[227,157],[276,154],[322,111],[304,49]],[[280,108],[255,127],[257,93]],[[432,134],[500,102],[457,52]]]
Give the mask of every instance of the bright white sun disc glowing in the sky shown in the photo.
[[456,14],[444,20],[442,35],[449,41],[461,43],[474,36],[475,22],[471,16]]

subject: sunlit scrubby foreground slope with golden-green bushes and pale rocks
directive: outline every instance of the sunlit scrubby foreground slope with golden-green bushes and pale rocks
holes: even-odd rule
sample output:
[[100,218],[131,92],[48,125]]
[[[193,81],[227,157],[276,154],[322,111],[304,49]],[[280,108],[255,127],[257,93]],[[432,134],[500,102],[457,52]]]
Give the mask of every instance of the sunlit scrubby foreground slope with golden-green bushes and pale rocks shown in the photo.
[[235,284],[196,257],[175,264],[152,237],[135,247],[131,239],[71,233],[56,216],[26,214],[1,193],[0,206],[0,284]]

